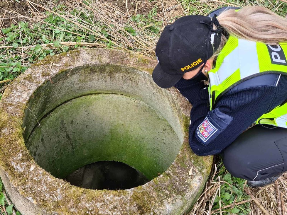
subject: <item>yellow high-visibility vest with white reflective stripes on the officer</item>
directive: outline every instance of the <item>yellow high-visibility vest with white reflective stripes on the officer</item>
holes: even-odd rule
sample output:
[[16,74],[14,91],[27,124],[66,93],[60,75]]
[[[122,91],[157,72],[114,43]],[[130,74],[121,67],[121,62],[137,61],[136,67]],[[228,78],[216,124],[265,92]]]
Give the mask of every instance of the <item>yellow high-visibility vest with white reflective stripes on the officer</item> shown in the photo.
[[[237,84],[262,74],[287,75],[287,42],[266,45],[229,36],[209,74],[210,110]],[[287,98],[287,95],[286,95]],[[287,103],[259,117],[256,124],[287,128]]]

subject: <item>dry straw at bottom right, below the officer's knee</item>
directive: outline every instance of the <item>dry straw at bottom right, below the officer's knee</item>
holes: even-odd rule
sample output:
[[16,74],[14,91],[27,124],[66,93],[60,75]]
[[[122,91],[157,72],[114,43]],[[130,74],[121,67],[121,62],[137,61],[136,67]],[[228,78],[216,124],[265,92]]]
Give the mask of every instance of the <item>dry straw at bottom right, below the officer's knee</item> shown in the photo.
[[[249,200],[236,202],[222,206],[220,209],[212,210],[211,206],[217,195],[220,196],[220,186],[226,183],[218,176],[219,170],[215,164],[210,180],[206,182],[205,190],[197,199],[189,215],[197,214],[227,214],[224,210],[235,205],[250,202],[251,215],[287,215],[287,173],[284,173],[275,183],[259,188],[244,186],[244,192],[250,196]],[[245,182],[246,185],[246,182]],[[231,185],[232,186],[232,185]]]

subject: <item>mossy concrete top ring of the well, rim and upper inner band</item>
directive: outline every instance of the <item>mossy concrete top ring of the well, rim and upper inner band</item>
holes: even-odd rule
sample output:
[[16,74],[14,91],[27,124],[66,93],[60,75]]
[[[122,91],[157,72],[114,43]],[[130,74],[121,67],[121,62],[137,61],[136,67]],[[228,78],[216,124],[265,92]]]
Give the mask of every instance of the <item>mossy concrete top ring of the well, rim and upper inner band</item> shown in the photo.
[[[51,61],[60,66],[50,69]],[[9,85],[0,102],[0,177],[22,214],[188,211],[205,185],[212,157],[192,153],[190,105],[175,88],[161,89],[153,83],[150,74],[155,65],[156,61],[132,52],[83,49],[44,59]],[[25,141],[38,121],[69,100],[98,93],[136,98],[166,119],[182,145],[163,174],[129,190],[88,190],[53,177],[34,161]]]

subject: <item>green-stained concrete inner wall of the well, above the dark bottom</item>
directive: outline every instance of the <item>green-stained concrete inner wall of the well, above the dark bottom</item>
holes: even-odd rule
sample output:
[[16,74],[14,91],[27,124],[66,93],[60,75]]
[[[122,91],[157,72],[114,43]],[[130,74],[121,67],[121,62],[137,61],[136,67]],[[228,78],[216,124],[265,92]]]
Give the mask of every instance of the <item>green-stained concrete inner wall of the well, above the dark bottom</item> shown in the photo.
[[28,103],[31,111],[25,111],[23,136],[42,168],[65,178],[89,163],[120,161],[151,180],[171,165],[183,142],[183,125],[166,89],[124,66],[69,72],[38,88]]

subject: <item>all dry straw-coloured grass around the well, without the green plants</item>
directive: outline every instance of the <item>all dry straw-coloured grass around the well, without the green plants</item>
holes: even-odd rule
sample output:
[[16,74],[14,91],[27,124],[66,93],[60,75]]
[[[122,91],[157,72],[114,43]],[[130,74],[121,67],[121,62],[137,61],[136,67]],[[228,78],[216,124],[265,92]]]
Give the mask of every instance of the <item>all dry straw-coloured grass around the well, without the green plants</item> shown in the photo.
[[[2,0],[7,1],[8,0]],[[131,1],[126,1],[131,2]],[[27,5],[30,8],[31,17],[19,15],[16,11],[6,11],[0,18],[0,27],[3,22],[3,18],[12,16],[18,17],[18,20],[28,19],[31,24],[33,23],[43,23],[46,24],[46,28],[58,28],[59,30],[65,33],[71,33],[74,28],[81,30],[85,34],[76,34],[76,36],[83,37],[81,42],[61,42],[68,47],[74,47],[75,45],[85,46],[85,47],[109,47],[109,43],[112,42],[112,47],[116,49],[124,50],[134,50],[140,53],[143,53],[149,57],[155,57],[154,49],[156,42],[158,40],[159,34],[156,34],[152,30],[149,30],[150,26],[146,25],[145,22],[141,21],[135,23],[131,21],[130,17],[138,13],[139,7],[141,4],[144,4],[144,0],[136,1],[134,0],[135,7],[133,9],[128,9],[126,5],[127,12],[123,12],[122,8],[119,8],[117,5],[111,5],[104,0],[93,0],[91,4],[85,4],[84,0],[69,0],[60,2],[66,6],[62,14],[59,14],[53,10],[53,7],[57,3],[52,1],[43,1],[42,5],[37,5],[32,1],[26,0]],[[227,3],[223,0],[200,0],[192,1],[192,3],[187,4],[186,1],[176,0],[172,6],[165,6],[164,1],[153,1],[154,4],[158,3],[158,16],[154,20],[158,23],[161,23],[159,26],[161,30],[167,24],[172,23],[176,17],[173,16],[172,11],[177,9],[181,10],[182,15],[188,14],[202,14],[206,15],[215,8],[221,6],[244,6],[244,5],[254,5],[255,1],[244,0],[243,4],[239,3]],[[264,6],[269,3],[268,7],[272,11],[278,11],[278,8],[282,4],[286,4],[285,0],[276,1],[274,4],[270,0],[258,0],[256,5]],[[59,4],[59,3],[58,3]],[[44,6],[43,6],[44,5]],[[266,6],[266,5],[265,5]],[[70,11],[74,8],[77,8],[82,13],[86,13],[87,17],[90,17],[90,21],[82,20],[80,17],[72,15]],[[42,11],[44,10],[44,12]],[[279,9],[280,10],[280,9]],[[68,23],[73,23],[71,29],[61,29],[58,24],[48,24],[43,21],[47,18],[45,11],[52,13],[54,16],[60,16],[64,18]],[[90,14],[93,14],[92,18]],[[170,17],[170,19],[168,18]],[[80,18],[80,19],[79,19]],[[100,25],[99,25],[100,23]],[[109,39],[101,33],[101,28],[99,26],[106,25],[107,34]],[[134,34],[131,34],[129,30],[126,30],[127,27],[131,27],[134,30]],[[75,34],[75,33],[73,33]],[[95,41],[91,42],[88,40],[87,35],[93,34]],[[4,37],[4,35],[0,35]],[[48,38],[49,39],[49,38]],[[40,38],[41,40],[41,38]],[[21,63],[23,65],[30,65],[32,62],[30,60],[31,54],[28,54],[27,50],[30,50],[31,47],[35,46],[21,45],[16,49],[13,48],[8,42],[3,40],[0,42],[0,54],[5,54],[8,58],[20,55]],[[54,43],[45,44],[42,41],[41,47],[45,49],[58,49],[54,46]],[[216,195],[220,195],[220,186],[223,182],[218,176],[218,170],[215,168],[210,177],[210,181],[206,183],[206,189],[202,195],[198,198],[198,201],[194,205],[190,214],[224,214],[227,207],[234,207],[237,204],[244,202],[235,203],[228,206],[223,206],[220,209],[212,211],[212,204]],[[252,189],[250,187],[245,187],[244,191],[251,196],[251,199],[247,200],[251,204],[250,214],[278,214],[278,215],[287,215],[287,174],[284,174],[281,178],[277,180],[275,184],[263,187],[261,189]],[[225,213],[226,214],[226,213]]]

